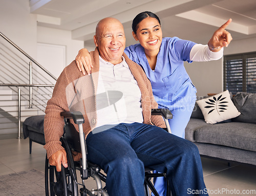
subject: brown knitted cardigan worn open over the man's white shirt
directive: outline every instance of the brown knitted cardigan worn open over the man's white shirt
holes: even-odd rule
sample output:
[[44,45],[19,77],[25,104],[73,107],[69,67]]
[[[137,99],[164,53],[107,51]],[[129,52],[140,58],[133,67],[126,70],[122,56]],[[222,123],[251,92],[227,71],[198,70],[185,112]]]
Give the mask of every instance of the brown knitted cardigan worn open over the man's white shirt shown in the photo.
[[[80,111],[85,122],[83,123],[84,135],[87,135],[97,124],[97,113],[95,109],[95,96],[97,92],[99,73],[99,52],[98,48],[90,52],[92,57],[92,74],[84,76],[73,61],[60,74],[52,94],[52,98],[47,102],[46,115],[44,121],[44,132],[48,158],[59,149],[63,149],[60,137],[63,135],[64,121],[60,113],[63,111]],[[137,80],[141,91],[141,107],[143,123],[154,124],[165,127],[161,116],[151,116],[151,109],[158,108],[152,93],[150,81],[147,79],[142,68],[130,60],[123,53],[134,78]],[[87,100],[87,101],[84,101]],[[70,106],[72,105],[72,106]],[[73,121],[71,121],[73,123]],[[74,124],[74,123],[73,123]],[[78,126],[74,124],[78,130]]]

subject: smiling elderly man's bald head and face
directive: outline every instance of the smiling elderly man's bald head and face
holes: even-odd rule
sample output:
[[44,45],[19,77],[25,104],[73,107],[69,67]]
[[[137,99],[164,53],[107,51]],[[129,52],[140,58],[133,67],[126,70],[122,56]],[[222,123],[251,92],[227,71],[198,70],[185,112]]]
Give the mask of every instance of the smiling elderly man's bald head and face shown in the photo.
[[120,21],[115,18],[103,19],[96,28],[94,43],[101,58],[112,64],[120,63],[125,48],[125,35]]

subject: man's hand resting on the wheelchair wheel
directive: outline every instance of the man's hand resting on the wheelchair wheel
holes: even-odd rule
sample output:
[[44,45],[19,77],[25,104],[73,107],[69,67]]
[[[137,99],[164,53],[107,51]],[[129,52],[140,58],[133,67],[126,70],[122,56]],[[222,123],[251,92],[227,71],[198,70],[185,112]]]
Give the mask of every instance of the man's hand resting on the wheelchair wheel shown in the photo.
[[49,157],[49,163],[50,165],[56,166],[57,171],[61,171],[61,163],[65,168],[67,168],[68,160],[66,151],[64,149],[56,151],[56,153]]

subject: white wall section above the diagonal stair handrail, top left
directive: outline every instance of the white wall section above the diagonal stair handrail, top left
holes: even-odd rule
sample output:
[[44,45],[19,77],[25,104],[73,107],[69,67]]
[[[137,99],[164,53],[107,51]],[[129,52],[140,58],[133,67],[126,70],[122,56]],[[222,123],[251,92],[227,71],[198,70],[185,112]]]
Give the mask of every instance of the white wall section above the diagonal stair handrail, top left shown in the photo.
[[19,48],[36,58],[36,16],[30,14],[29,1],[1,1],[0,31]]

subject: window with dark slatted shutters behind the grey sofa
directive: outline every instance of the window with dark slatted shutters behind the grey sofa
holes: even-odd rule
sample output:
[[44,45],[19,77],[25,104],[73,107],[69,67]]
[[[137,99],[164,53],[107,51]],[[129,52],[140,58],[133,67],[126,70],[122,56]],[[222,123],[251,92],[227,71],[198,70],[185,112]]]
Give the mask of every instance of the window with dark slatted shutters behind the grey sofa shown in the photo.
[[224,56],[224,90],[256,93],[256,52]]

